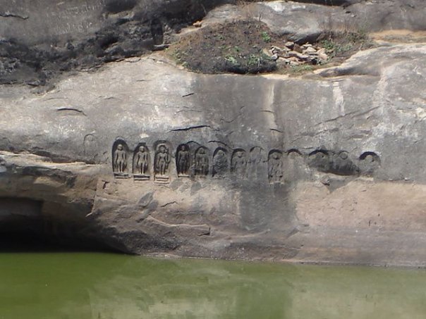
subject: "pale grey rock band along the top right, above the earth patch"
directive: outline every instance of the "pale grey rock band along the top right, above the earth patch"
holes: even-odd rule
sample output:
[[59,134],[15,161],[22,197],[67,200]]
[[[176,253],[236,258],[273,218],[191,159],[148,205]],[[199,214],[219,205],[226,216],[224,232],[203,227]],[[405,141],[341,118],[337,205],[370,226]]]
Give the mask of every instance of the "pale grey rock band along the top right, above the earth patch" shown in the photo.
[[302,43],[315,42],[323,33],[337,30],[426,29],[426,8],[422,0],[348,1],[346,4],[339,1],[342,6],[322,6],[320,2],[326,1],[266,1],[243,7],[220,6],[208,13],[204,25],[255,18],[273,32]]

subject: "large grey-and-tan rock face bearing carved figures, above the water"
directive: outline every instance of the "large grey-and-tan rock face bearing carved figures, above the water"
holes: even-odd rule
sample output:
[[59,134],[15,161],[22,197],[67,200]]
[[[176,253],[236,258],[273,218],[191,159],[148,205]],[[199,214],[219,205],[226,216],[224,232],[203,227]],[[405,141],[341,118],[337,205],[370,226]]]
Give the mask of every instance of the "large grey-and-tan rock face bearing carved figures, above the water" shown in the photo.
[[134,254],[424,265],[425,63],[402,44],[305,77],[202,75],[150,54],[4,85],[2,223]]

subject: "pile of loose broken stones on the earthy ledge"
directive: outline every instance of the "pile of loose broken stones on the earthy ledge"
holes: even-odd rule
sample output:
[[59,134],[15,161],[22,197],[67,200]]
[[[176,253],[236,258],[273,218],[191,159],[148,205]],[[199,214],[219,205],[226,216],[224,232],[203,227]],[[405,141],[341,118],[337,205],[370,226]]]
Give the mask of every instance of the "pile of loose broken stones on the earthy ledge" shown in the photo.
[[282,48],[271,46],[271,49],[265,49],[264,53],[270,56],[278,63],[296,66],[303,64],[322,64],[329,60],[327,50],[319,46],[313,46],[310,43],[299,45],[294,42],[286,42]]

